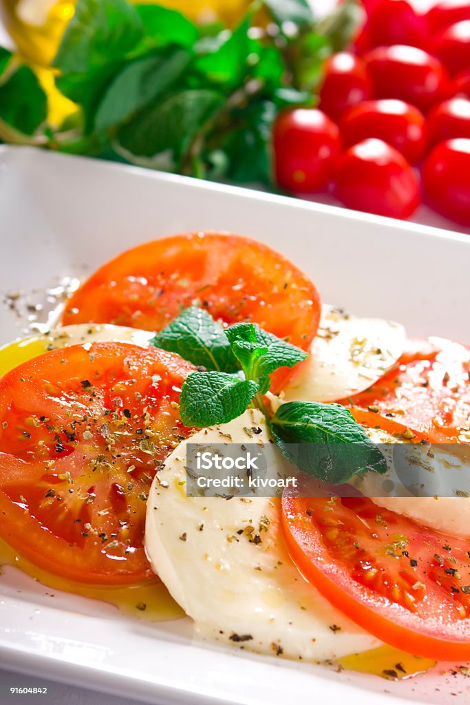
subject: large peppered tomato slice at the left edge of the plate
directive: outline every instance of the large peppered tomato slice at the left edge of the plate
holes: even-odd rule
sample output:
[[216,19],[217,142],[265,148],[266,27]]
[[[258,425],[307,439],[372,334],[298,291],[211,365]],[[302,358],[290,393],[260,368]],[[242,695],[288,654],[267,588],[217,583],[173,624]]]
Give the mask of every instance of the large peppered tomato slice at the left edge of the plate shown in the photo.
[[69,580],[152,577],[144,553],[149,486],[187,438],[180,386],[194,367],[125,343],[73,345],[0,380],[0,535]]

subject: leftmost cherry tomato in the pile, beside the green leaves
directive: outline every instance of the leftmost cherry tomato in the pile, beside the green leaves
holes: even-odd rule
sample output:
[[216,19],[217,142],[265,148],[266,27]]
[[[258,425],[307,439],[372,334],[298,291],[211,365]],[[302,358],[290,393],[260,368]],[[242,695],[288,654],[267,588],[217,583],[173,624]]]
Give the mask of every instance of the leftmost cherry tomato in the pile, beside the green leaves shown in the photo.
[[333,176],[340,154],[338,125],[321,110],[281,111],[273,130],[276,182],[297,193],[313,193]]

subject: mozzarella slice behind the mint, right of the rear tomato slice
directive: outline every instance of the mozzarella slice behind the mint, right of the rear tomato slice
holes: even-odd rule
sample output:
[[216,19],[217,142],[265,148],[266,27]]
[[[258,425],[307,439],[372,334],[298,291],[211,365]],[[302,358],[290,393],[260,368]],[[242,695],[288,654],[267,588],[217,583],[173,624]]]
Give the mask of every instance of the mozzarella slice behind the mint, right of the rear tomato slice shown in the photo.
[[323,306],[309,357],[285,389],[285,399],[326,402],[364,391],[397,362],[405,337],[400,324]]

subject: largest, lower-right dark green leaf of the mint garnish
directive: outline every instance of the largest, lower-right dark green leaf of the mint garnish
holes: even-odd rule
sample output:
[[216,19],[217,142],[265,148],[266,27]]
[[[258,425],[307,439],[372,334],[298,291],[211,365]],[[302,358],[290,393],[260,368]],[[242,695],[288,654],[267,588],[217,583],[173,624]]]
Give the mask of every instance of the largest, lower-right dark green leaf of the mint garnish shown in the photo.
[[300,470],[340,484],[354,474],[387,472],[387,461],[339,404],[290,402],[271,419],[274,440]]

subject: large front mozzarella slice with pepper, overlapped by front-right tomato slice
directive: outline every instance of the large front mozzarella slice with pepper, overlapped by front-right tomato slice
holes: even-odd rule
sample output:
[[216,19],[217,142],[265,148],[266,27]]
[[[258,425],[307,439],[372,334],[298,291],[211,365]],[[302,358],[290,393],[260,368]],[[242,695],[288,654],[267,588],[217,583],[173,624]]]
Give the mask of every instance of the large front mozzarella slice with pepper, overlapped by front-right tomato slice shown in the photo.
[[[249,438],[246,429],[260,427]],[[190,443],[269,443],[255,410]],[[322,661],[378,640],[330,605],[287,553],[275,498],[187,498],[186,441],[167,458],[147,503],[145,546],[155,572],[203,637],[240,648]],[[260,541],[251,541],[253,535]]]

